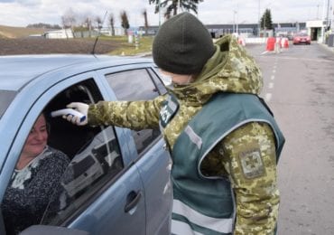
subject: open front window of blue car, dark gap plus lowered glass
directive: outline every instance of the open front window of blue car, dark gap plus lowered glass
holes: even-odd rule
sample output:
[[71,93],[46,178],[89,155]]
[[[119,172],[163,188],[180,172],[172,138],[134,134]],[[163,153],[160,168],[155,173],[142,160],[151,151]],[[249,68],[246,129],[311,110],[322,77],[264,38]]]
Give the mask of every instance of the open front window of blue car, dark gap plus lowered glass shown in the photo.
[[[70,102],[96,103],[102,96],[93,80],[60,92],[47,112]],[[114,127],[78,127],[63,118],[49,118],[49,144],[70,157],[70,164],[54,190],[42,224],[59,225],[76,214],[124,168]]]

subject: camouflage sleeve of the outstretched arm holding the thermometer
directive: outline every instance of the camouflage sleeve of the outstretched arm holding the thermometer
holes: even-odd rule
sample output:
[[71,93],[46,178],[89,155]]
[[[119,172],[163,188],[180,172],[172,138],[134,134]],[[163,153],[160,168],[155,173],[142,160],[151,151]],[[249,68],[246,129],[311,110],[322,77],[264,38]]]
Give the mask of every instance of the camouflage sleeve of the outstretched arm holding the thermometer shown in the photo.
[[99,101],[89,105],[88,123],[91,126],[114,125],[131,129],[159,126],[159,111],[163,96],[147,101]]

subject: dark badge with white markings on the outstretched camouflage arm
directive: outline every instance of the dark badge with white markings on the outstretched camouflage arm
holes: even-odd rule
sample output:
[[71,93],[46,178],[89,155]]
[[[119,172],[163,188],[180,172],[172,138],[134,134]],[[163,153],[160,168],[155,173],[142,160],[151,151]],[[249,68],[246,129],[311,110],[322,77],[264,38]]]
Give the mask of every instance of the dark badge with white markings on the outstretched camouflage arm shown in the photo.
[[162,127],[167,126],[178,111],[179,106],[178,100],[172,94],[169,94],[168,98],[163,102],[162,109],[160,110],[160,123]]

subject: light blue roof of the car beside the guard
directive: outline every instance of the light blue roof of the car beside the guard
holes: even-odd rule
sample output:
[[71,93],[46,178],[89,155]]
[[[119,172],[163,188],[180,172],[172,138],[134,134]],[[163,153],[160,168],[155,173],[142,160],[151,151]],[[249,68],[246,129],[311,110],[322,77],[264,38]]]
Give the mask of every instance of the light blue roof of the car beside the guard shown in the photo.
[[[19,90],[25,84],[51,71],[85,66],[94,70],[104,66],[152,62],[139,57],[93,54],[30,54],[0,56],[0,89]],[[89,69],[88,69],[89,68]]]

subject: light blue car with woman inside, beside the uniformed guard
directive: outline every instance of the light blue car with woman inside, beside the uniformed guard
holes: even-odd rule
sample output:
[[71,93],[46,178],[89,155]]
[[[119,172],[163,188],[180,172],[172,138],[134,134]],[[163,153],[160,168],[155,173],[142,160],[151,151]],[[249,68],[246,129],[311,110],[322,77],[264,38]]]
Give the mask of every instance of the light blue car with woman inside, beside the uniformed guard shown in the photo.
[[[72,101],[153,99],[166,92],[151,58],[107,55],[0,57],[0,199],[36,118]],[[48,144],[70,156],[70,202],[22,234],[170,234],[171,155],[159,128],[78,127],[47,118]],[[52,204],[52,202],[50,202]],[[51,207],[50,207],[51,208]],[[58,233],[53,233],[58,232]],[[5,235],[0,212],[0,234]]]

